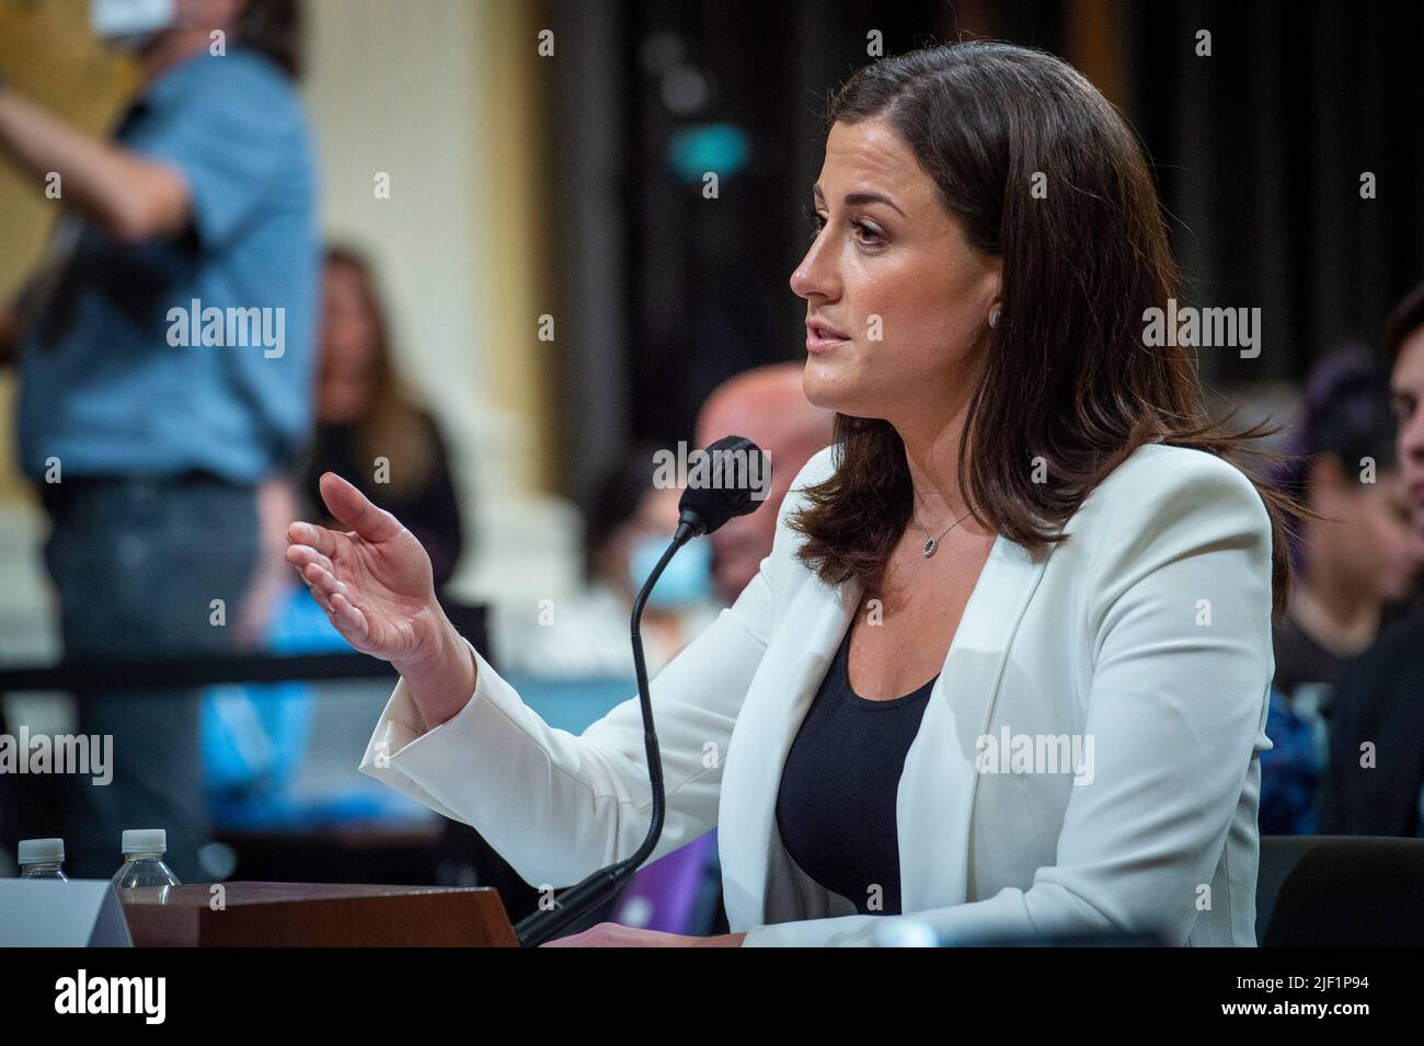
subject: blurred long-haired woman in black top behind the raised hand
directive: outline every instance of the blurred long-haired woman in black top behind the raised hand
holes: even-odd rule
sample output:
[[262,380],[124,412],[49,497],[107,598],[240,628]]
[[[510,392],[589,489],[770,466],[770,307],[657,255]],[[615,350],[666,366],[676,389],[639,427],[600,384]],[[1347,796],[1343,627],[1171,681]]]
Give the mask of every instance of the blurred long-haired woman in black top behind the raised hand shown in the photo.
[[328,248],[322,280],[316,435],[302,470],[313,511],[322,511],[318,480],[328,471],[404,521],[430,554],[436,588],[450,581],[463,542],[446,441],[397,377],[370,263],[345,246]]

